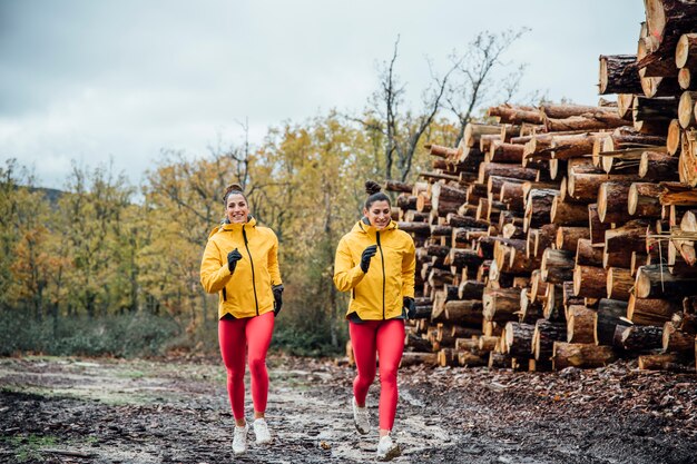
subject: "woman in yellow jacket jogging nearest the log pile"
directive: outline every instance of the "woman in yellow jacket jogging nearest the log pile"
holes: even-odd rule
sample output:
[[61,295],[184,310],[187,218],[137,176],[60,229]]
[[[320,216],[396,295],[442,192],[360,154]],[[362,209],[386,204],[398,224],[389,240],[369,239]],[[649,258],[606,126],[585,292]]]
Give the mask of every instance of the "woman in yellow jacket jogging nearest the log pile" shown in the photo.
[[365,398],[380,357],[380,441],[377,458],[389,461],[401,451],[390,435],[397,403],[396,372],[404,349],[404,319],[414,313],[414,241],[391,218],[390,197],[380,185],[365,182],[369,195],[363,218],[336,248],[334,284],[351,292],[346,318],[357,375],[352,409],[356,430],[370,432]]

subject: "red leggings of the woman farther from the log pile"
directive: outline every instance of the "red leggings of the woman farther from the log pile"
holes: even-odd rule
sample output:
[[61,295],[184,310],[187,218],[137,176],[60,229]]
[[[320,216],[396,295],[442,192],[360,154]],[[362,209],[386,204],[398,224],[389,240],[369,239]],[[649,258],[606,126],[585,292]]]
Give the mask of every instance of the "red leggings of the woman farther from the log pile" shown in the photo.
[[254,411],[266,411],[268,374],[266,352],[274,332],[274,313],[244,319],[218,320],[220,355],[227,369],[227,394],[236,419],[245,416],[245,352],[252,374],[252,401]]

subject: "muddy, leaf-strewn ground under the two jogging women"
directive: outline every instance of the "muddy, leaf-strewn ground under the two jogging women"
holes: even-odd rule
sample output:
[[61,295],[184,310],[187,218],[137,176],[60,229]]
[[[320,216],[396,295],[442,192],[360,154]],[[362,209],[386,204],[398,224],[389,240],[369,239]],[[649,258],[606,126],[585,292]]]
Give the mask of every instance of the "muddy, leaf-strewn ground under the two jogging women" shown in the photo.
[[[282,356],[269,367],[275,440],[235,458],[216,359],[0,358],[0,462],[373,461],[376,432],[351,422],[353,368]],[[394,462],[697,463],[695,374],[411,367],[400,395]]]

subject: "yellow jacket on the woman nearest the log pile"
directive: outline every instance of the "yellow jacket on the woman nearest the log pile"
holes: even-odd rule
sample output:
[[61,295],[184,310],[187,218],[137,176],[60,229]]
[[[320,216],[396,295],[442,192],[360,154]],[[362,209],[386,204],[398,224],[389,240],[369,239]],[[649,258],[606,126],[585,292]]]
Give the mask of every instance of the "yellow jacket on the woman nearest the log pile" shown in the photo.
[[[361,269],[363,250],[377,245],[367,273]],[[414,240],[391,221],[383,230],[360,220],[336,248],[334,285],[351,292],[346,315],[364,320],[391,319],[402,314],[403,297],[414,297],[416,258]]]

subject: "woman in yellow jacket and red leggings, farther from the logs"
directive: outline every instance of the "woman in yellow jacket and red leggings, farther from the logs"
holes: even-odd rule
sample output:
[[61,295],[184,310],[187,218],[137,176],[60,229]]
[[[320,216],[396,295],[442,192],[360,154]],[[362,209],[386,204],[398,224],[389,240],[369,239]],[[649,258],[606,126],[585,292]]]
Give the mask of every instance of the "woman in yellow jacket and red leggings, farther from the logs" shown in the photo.
[[206,292],[219,297],[218,342],[236,424],[233,452],[243,454],[247,450],[249,430],[244,411],[245,354],[252,374],[256,443],[271,442],[264,417],[268,396],[266,352],[274,317],[283,305],[283,283],[276,234],[256,224],[242,187],[230,185],[223,203],[225,219],[208,236],[200,263],[200,283]]

